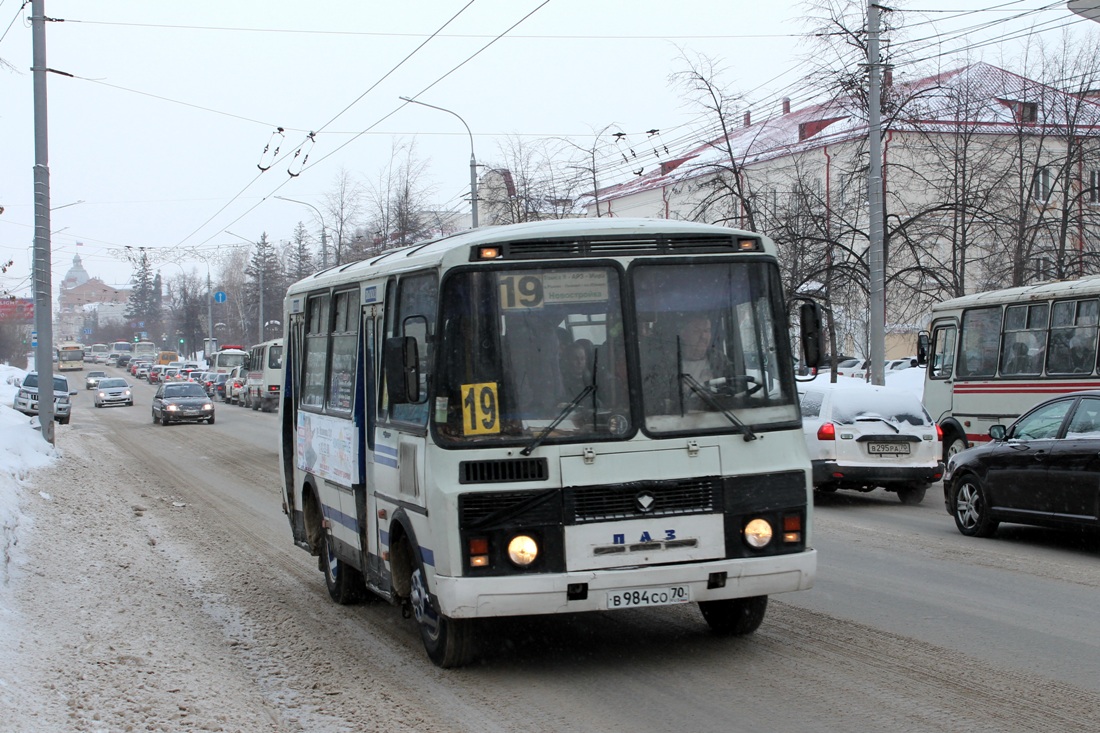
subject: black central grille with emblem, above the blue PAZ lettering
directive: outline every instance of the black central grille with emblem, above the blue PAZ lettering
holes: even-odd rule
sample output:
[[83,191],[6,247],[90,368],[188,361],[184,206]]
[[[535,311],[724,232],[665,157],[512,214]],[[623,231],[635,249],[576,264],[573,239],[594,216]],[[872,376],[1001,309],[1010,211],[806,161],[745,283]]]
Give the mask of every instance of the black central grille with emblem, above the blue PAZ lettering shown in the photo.
[[722,510],[721,496],[722,481],[716,478],[566,489],[565,521],[584,524],[675,514],[708,514]]

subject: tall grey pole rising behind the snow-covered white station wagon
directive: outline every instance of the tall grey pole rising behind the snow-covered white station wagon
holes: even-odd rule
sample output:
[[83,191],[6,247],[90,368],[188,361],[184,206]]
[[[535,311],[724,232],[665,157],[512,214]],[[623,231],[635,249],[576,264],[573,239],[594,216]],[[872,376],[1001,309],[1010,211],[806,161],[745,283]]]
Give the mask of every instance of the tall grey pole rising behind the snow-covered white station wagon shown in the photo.
[[867,150],[870,165],[867,172],[867,199],[870,215],[870,306],[871,306],[871,384],[886,383],[886,263],[882,231],[882,65],[879,62],[879,7],[867,3]]

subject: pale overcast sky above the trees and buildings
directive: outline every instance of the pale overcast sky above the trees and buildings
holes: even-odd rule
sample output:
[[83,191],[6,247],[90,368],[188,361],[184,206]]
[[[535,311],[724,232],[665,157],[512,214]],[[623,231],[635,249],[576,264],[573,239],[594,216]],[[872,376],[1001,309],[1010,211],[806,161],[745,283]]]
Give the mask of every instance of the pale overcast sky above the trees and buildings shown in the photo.
[[[0,0],[0,59],[10,65],[0,68],[0,262],[13,261],[0,295],[30,296],[34,113],[31,6],[22,4]],[[1044,0],[897,4],[921,11],[909,15],[914,57],[942,52],[930,53],[937,34],[950,48],[1028,26],[1091,25]],[[807,11],[793,0],[45,0],[45,10],[64,21],[46,26],[47,66],[73,75],[48,75],[55,292],[74,254],[92,276],[127,286],[127,248],[167,262],[262,232],[285,241],[299,220],[316,234],[312,209],[274,196],[323,208],[341,169],[376,177],[395,140],[415,141],[438,208],[468,211],[465,129],[402,96],[460,114],[485,164],[499,163],[508,135],[588,147],[613,125],[630,143],[651,129],[669,143],[696,140],[698,111],[669,81],[684,68],[681,48],[719,59],[755,120],[781,96],[795,108],[809,101],[798,85]],[[992,21],[1002,22],[950,35]],[[1001,64],[1019,43],[971,57]],[[308,161],[285,157],[262,173],[279,127],[279,154],[301,149]],[[609,175],[603,184],[630,173]],[[179,271],[162,267],[166,277]]]

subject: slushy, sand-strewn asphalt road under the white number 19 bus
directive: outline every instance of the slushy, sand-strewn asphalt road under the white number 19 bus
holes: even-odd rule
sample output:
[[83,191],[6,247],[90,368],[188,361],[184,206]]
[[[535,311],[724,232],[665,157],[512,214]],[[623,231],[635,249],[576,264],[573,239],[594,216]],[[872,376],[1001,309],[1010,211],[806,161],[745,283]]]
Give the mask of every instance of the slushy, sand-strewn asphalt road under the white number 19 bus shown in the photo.
[[294,546],[277,414],[162,427],[135,390],[109,409],[81,393],[29,492],[0,729],[1097,727],[1096,535],[963,537],[938,485],[919,506],[821,495],[817,583],[751,636],[713,636],[693,604],[506,620],[441,670],[398,609],[332,603]]

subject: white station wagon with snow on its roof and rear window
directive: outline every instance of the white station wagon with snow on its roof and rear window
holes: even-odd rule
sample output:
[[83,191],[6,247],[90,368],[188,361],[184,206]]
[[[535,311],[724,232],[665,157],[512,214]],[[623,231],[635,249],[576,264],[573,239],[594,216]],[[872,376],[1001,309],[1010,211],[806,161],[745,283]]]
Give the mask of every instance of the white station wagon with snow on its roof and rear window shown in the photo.
[[944,474],[943,434],[916,395],[845,381],[799,385],[802,430],[818,491],[898,492],[920,504]]

